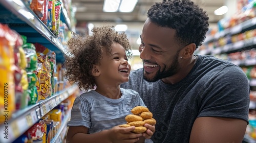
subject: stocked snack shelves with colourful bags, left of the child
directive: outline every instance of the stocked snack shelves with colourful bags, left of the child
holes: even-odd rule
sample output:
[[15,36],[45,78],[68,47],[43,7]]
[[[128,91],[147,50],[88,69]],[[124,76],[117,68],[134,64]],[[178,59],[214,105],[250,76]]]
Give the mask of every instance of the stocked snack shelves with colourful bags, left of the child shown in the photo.
[[0,142],[65,142],[79,94],[62,66],[71,2],[3,0],[0,9]]

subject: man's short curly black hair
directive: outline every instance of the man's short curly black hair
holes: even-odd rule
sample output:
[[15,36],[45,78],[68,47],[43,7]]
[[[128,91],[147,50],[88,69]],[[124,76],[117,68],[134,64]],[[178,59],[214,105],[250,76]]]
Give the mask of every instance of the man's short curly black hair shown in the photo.
[[147,17],[160,27],[176,30],[176,38],[181,45],[195,43],[196,49],[202,45],[208,31],[208,15],[190,0],[169,0],[155,3]]

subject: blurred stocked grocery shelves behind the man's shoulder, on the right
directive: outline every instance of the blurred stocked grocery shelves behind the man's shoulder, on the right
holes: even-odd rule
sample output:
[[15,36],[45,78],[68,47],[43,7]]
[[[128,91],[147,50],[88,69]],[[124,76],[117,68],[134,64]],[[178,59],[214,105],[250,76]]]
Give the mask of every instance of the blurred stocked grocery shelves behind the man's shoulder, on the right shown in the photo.
[[242,67],[250,84],[249,125],[244,142],[256,142],[256,2],[237,1],[236,13],[209,29],[197,51]]

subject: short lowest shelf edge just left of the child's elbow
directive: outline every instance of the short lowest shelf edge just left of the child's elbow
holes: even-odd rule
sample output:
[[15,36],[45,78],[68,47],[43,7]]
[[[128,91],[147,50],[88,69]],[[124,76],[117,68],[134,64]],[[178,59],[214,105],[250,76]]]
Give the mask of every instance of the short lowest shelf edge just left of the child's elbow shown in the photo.
[[64,137],[67,133],[67,123],[70,120],[70,116],[71,116],[71,110],[63,118],[63,121],[61,122],[61,126],[59,128],[59,131],[55,135],[55,137],[53,139],[51,139],[51,143],[61,143],[61,142],[63,142],[63,139],[64,139]]

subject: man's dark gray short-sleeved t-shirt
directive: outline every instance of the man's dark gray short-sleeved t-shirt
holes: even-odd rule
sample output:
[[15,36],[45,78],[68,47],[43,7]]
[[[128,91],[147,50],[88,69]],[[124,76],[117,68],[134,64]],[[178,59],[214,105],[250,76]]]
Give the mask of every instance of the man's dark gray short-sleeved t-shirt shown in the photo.
[[139,92],[156,119],[154,142],[189,142],[197,117],[230,117],[248,124],[249,85],[243,70],[212,56],[198,55],[190,73],[176,84],[143,80],[143,69],[121,85]]

